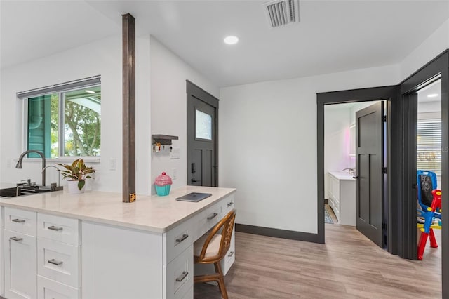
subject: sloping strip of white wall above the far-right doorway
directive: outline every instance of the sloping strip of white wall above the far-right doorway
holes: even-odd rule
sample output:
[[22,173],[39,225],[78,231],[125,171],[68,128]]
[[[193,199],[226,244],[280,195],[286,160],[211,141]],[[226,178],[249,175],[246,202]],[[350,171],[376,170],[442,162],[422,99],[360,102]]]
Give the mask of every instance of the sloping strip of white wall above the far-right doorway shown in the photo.
[[[449,48],[449,19],[401,62],[401,80]],[[399,83],[399,82],[397,82]]]

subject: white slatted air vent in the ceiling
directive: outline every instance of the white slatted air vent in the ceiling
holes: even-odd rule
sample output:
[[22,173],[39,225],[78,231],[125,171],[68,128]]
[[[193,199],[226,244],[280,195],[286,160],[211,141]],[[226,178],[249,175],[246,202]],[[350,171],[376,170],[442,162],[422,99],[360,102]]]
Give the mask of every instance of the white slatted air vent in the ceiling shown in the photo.
[[264,4],[270,25],[280,27],[288,23],[300,22],[300,3],[298,0],[274,0]]

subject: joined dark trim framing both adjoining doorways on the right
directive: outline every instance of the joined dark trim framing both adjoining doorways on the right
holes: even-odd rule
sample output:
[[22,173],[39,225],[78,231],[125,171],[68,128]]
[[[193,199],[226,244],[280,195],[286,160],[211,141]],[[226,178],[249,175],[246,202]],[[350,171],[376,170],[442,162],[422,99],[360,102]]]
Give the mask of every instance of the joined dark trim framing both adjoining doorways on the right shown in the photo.
[[[416,180],[410,149],[416,146],[413,96],[422,84],[441,74],[441,165],[449,165],[449,49],[417,70],[397,86],[317,93],[317,188],[318,241],[324,243],[324,105],[343,102],[387,100],[387,250],[401,258],[417,259]],[[367,96],[371,95],[371,96]],[[375,99],[373,99],[373,97]],[[407,156],[404,157],[404,156]],[[416,166],[415,166],[416,168]],[[449,168],[441,170],[441,189],[449,192]],[[449,223],[449,196],[443,192],[441,221]],[[449,256],[449,225],[441,228],[441,256]],[[449,281],[449,259],[441,259],[441,281]],[[442,283],[442,298],[449,298],[449,285]]]

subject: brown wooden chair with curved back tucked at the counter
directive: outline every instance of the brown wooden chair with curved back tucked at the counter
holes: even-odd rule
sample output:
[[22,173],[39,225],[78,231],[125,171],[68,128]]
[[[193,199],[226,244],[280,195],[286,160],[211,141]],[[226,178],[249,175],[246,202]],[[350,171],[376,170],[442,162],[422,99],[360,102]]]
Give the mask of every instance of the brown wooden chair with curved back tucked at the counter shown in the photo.
[[[203,235],[194,244],[194,263],[212,264],[215,266],[214,274],[198,275],[194,277],[194,284],[197,282],[217,281],[222,297],[227,299],[225,279],[223,277],[220,261],[225,258],[231,246],[232,230],[234,230],[234,220],[236,210],[230,211],[225,218],[213,227],[208,234]],[[222,233],[217,234],[222,228]]]

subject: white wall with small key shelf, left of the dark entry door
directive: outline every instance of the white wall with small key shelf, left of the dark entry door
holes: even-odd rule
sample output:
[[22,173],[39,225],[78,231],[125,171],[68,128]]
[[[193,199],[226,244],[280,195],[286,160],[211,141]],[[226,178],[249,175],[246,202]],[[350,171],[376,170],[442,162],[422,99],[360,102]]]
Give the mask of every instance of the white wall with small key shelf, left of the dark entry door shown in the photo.
[[[186,80],[192,81],[208,93],[218,98],[217,86],[196,72],[187,62],[151,38],[151,126],[152,134],[175,135],[173,150],[179,150],[179,159],[170,159],[170,149],[166,146],[161,152],[152,152],[151,184],[165,171],[173,178],[172,188],[186,185],[187,182],[187,94]],[[174,171],[175,170],[175,171]],[[152,187],[152,193],[156,190]]]

